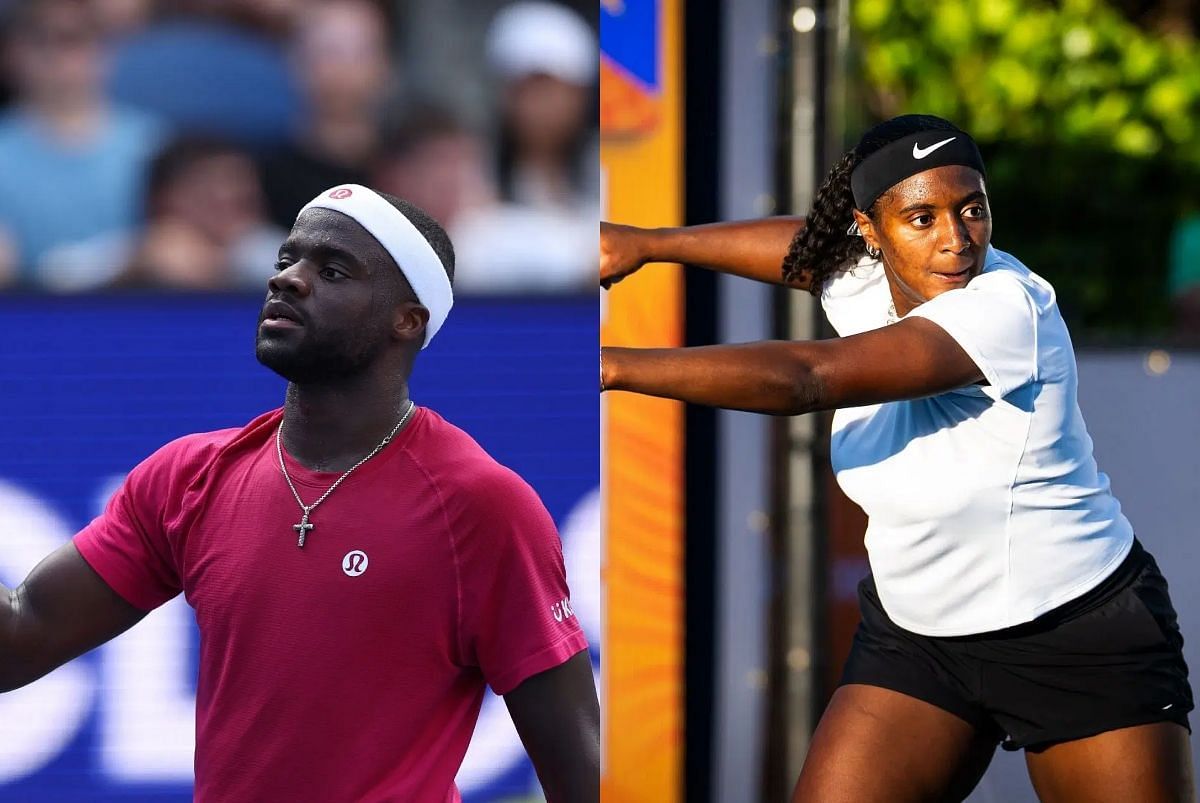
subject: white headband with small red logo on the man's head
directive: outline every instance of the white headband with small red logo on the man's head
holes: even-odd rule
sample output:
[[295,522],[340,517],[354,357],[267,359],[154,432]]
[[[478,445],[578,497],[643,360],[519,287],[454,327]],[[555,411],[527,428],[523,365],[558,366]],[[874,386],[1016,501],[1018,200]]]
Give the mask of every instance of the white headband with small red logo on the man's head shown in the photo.
[[416,230],[403,212],[373,190],[358,184],[343,184],[326,190],[305,204],[300,215],[310,209],[332,209],[353,218],[391,254],[416,293],[416,300],[430,311],[421,348],[428,346],[450,314],[454,290],[445,266],[425,235]]

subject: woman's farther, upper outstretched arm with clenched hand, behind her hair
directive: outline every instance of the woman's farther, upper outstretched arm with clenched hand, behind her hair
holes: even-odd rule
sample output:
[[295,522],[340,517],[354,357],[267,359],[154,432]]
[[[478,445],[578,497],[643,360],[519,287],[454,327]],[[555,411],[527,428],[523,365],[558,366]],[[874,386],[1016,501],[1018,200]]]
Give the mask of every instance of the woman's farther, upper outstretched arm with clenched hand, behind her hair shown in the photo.
[[803,224],[803,217],[655,229],[600,223],[600,284],[611,287],[652,262],[679,262],[806,290],[806,276],[785,282],[782,268]]

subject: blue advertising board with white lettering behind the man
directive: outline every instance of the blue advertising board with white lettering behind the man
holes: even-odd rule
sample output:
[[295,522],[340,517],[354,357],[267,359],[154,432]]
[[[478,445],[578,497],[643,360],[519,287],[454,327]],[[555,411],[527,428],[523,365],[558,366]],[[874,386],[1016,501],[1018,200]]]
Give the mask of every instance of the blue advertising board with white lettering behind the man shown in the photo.
[[[0,582],[19,583],[163,443],[239,426],[282,403],[283,380],[253,356],[260,302],[0,298]],[[419,405],[473,435],[541,496],[563,535],[594,666],[596,343],[594,296],[462,299],[410,383]],[[197,641],[194,618],[176,599],[100,649],[0,695],[0,799],[190,801]],[[473,803],[536,790],[492,694],[458,784]]]

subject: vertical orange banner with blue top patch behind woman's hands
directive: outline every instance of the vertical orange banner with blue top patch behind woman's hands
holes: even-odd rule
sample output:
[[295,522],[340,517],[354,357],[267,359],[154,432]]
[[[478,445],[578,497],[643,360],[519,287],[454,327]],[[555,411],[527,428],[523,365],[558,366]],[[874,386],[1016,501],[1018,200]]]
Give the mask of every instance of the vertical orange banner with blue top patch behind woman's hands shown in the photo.
[[[678,0],[602,0],[600,162],[606,217],[683,221]],[[604,296],[608,346],[683,344],[677,265],[648,266]],[[683,797],[683,407],[604,397],[605,803]]]

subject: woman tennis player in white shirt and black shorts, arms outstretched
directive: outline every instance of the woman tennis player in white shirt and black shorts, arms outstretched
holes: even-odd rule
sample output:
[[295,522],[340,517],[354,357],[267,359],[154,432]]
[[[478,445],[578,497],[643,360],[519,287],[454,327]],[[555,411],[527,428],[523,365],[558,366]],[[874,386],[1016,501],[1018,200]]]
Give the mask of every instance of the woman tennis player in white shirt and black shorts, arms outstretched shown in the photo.
[[840,337],[605,348],[601,389],[836,409],[871,576],[793,803],[953,801],[997,744],[1046,803],[1192,801],[1192,690],[1154,559],[1097,471],[1054,289],[991,246],[979,151],[863,136],[806,218],[601,227],[601,283],[683,262],[818,293]]

